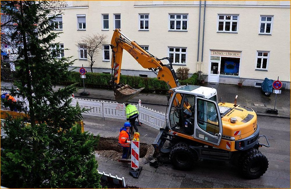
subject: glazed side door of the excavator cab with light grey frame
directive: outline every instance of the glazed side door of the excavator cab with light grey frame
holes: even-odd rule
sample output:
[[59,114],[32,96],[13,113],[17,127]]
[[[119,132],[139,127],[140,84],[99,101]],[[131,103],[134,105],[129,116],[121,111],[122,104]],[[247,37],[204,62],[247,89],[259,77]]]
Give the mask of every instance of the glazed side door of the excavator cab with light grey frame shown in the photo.
[[222,122],[216,101],[196,97],[194,138],[219,145]]

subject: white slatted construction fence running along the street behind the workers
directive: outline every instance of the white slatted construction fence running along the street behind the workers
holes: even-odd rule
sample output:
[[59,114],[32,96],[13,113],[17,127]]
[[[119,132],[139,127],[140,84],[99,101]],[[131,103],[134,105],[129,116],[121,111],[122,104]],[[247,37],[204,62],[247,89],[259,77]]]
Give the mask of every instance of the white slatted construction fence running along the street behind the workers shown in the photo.
[[[1,95],[5,92],[2,91]],[[27,100],[21,98],[15,98],[16,100],[24,101],[26,106],[28,107]],[[102,117],[102,119],[108,118],[117,118],[126,120],[125,113],[125,104],[118,104],[117,102],[111,101],[99,101],[93,99],[81,99],[81,98],[73,98],[72,105],[76,106],[77,102],[81,108],[88,109],[87,112],[84,112],[83,115],[92,115]],[[162,112],[155,111],[151,108],[146,108],[141,105],[141,100],[139,100],[138,104],[134,104],[139,111],[139,121],[147,124],[156,129],[160,129],[166,120],[166,115]],[[3,108],[3,107],[1,107]],[[2,135],[2,133],[1,133]]]

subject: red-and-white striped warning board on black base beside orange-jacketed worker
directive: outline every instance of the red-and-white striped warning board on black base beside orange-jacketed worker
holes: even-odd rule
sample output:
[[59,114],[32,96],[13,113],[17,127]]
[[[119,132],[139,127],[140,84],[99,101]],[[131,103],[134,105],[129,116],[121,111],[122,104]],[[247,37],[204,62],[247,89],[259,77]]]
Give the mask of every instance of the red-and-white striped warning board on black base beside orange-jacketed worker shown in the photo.
[[132,170],[129,171],[129,174],[133,178],[139,178],[139,174],[143,167],[139,167],[139,141],[132,140],[131,141],[131,168]]

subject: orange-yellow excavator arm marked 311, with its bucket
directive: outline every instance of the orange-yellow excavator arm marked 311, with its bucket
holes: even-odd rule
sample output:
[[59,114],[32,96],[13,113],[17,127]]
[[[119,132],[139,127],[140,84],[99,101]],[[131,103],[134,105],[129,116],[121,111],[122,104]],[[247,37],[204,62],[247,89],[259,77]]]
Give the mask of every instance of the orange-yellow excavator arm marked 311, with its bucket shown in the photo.
[[[123,49],[126,50],[143,68],[147,68],[152,70],[157,74],[157,79],[161,81],[165,81],[168,85],[168,88],[175,88],[179,86],[179,81],[177,79],[176,73],[171,66],[170,58],[162,58],[158,59],[153,56],[149,52],[145,51],[143,48],[139,46],[135,41],[127,38],[123,33],[120,32],[120,29],[115,29],[112,39],[111,39],[111,50],[112,50],[112,58],[111,58],[111,85],[113,86],[115,99],[118,103],[124,103],[128,99],[136,96],[141,92],[141,89],[133,89],[128,85],[124,85],[120,83],[120,70],[122,64],[122,54]],[[161,60],[168,60],[170,62],[169,65],[164,65]],[[158,73],[156,71],[158,70]],[[124,94],[120,91],[129,88],[132,89],[133,92],[131,94]],[[181,101],[181,96],[178,95],[176,99],[175,105]]]

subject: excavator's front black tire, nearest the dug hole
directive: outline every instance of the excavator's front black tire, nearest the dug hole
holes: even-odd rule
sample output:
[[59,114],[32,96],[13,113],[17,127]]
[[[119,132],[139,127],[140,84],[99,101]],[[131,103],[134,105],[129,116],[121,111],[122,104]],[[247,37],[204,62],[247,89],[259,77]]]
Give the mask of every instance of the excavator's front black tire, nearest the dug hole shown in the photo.
[[178,170],[190,170],[194,165],[195,158],[196,156],[189,146],[182,142],[173,146],[170,154],[170,160],[175,169]]

